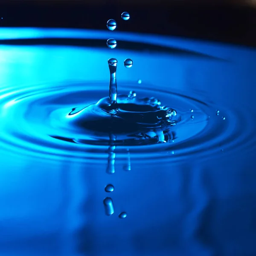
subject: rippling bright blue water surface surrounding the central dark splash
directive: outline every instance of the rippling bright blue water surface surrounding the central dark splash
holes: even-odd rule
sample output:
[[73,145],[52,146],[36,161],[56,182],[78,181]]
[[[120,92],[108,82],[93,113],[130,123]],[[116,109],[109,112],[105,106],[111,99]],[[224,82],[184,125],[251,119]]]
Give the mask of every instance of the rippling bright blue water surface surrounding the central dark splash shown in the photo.
[[[115,31],[0,30],[1,256],[256,254],[255,49]],[[42,41],[10,40],[29,38]],[[118,94],[153,96],[182,117],[168,142],[157,131],[150,145],[116,145],[120,134],[67,126],[70,110],[109,95],[109,58],[120,63]]]

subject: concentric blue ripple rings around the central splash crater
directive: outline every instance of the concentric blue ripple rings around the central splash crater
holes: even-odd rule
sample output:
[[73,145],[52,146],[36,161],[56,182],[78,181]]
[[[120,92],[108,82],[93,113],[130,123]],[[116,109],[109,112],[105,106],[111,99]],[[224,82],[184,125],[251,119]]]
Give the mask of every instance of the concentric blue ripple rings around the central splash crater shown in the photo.
[[[70,109],[93,104],[106,96],[107,89],[105,83],[76,82],[0,91],[0,147],[47,159],[105,160],[108,143],[97,143],[96,132],[75,131],[63,120]],[[142,158],[178,161],[195,154],[212,157],[222,152],[245,150],[255,142],[248,112],[221,109],[223,119],[222,115],[216,115],[216,106],[191,96],[155,90],[149,84],[140,87],[135,83],[119,83],[119,93],[131,89],[136,90],[137,95],[154,95],[163,105],[173,106],[182,120],[172,126],[173,138],[169,142],[116,146],[116,157],[127,157],[129,149],[133,161]],[[157,136],[153,137],[157,140]]]

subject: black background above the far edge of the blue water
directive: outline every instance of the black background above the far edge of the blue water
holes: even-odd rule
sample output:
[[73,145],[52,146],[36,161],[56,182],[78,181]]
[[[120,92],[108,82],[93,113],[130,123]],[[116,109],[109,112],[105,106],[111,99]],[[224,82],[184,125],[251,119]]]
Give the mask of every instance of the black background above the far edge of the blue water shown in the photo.
[[3,27],[106,29],[106,21],[131,18],[119,31],[200,38],[256,47],[254,0],[2,0]]

